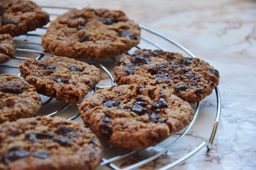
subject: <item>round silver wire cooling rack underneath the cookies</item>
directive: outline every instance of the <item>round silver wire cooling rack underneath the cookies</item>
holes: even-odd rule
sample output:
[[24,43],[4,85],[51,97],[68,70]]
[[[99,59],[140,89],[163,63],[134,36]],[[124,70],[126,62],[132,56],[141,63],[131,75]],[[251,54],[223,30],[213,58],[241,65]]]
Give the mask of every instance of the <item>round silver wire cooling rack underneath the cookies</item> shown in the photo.
[[[56,18],[56,16],[63,14],[64,12],[70,10],[70,8],[62,8],[62,7],[42,7],[43,10],[47,11],[50,14],[50,20]],[[27,35],[22,35],[19,37],[14,37],[14,41],[16,43],[16,54],[15,57],[10,59],[10,61],[3,63],[0,65],[0,74],[2,73],[10,73],[10,74],[19,74],[19,65],[25,59],[34,57],[35,59],[44,59],[47,57],[53,56],[52,54],[44,52],[40,40],[41,36],[46,32],[47,29],[45,27],[38,28],[36,31],[28,32]],[[141,42],[131,49],[126,54],[131,54],[136,49],[161,49],[172,51],[172,52],[179,52],[183,53],[190,57],[196,57],[193,53],[191,53],[188,49],[184,48],[181,44],[177,43],[176,41],[170,39],[167,36],[162,35],[159,32],[156,32],[150,28],[145,27],[144,25],[139,25],[142,29],[142,37]],[[123,54],[125,55],[125,54]],[[122,56],[119,56],[122,57]],[[88,95],[92,94],[93,92],[97,91],[100,88],[114,86],[114,78],[113,78],[113,68],[115,62],[118,61],[119,57],[115,58],[108,58],[102,60],[96,59],[79,59],[81,61],[93,64],[101,69],[102,71],[102,80],[98,83]],[[141,167],[145,167],[147,164],[152,162],[156,162],[161,158],[167,158],[168,161],[165,164],[161,164],[162,167],[156,167],[158,169],[170,169],[177,164],[184,162],[184,160],[191,157],[197,151],[201,150],[201,148],[207,146],[208,150],[210,150],[213,146],[214,137],[216,135],[218,122],[220,120],[220,113],[221,113],[221,99],[220,99],[220,92],[218,91],[218,87],[215,89],[216,93],[216,107],[214,106],[215,111],[215,118],[213,121],[213,126],[209,137],[209,140],[205,140],[203,138],[197,139],[196,146],[193,146],[190,150],[186,150],[184,153],[177,154],[178,156],[173,156],[172,152],[174,152],[173,147],[180,143],[181,139],[185,137],[191,137],[189,135],[189,130],[192,129],[194,126],[197,116],[200,110],[200,103],[192,105],[195,109],[195,117],[193,118],[192,122],[187,126],[186,129],[181,131],[180,133],[174,134],[172,137],[166,139],[164,142],[160,143],[155,147],[147,148],[146,150],[140,151],[126,151],[126,150],[118,150],[112,146],[108,146],[105,143],[104,149],[104,157],[102,158],[102,162],[99,165],[98,169],[139,169]],[[88,96],[86,95],[86,96]],[[85,96],[85,97],[86,97]],[[60,103],[51,97],[42,96],[42,104],[38,116],[60,116],[65,117],[67,120],[74,120],[82,123],[80,119],[80,113],[77,109],[76,105],[70,105],[65,103]],[[209,127],[208,127],[209,128]],[[192,137],[193,138],[193,137]],[[188,143],[190,142],[187,141]],[[184,140],[183,140],[184,141]],[[186,142],[186,141],[185,141]],[[184,143],[184,142],[183,142]],[[171,153],[171,154],[170,154]],[[145,169],[145,168],[144,168]],[[146,168],[147,169],[147,168]]]

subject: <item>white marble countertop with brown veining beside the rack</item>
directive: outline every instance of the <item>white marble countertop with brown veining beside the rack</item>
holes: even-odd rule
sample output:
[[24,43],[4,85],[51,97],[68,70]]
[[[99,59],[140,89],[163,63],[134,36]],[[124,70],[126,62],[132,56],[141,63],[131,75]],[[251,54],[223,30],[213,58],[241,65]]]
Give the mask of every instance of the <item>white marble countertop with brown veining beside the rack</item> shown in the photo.
[[[220,71],[221,118],[212,150],[204,147],[173,169],[256,169],[256,1],[35,0],[40,6],[94,7],[125,11],[130,19],[171,37]],[[166,46],[168,50],[168,46]],[[171,50],[171,49],[170,49]],[[208,141],[216,97],[201,102],[190,137]],[[209,125],[210,124],[210,125]],[[189,137],[187,138],[189,140]],[[185,141],[172,149],[190,148]],[[170,152],[172,155],[172,151]],[[171,156],[139,169],[157,169]],[[175,156],[174,156],[175,157]]]

